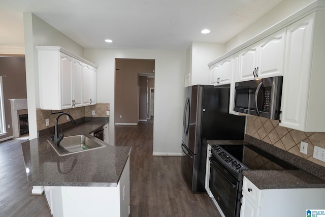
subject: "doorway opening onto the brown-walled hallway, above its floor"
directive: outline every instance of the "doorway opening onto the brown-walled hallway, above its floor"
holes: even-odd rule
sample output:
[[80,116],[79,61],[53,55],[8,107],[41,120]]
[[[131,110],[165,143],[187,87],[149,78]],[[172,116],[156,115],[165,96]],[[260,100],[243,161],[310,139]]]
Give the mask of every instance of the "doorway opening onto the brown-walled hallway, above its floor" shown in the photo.
[[115,125],[148,120],[154,67],[154,59],[115,59]]

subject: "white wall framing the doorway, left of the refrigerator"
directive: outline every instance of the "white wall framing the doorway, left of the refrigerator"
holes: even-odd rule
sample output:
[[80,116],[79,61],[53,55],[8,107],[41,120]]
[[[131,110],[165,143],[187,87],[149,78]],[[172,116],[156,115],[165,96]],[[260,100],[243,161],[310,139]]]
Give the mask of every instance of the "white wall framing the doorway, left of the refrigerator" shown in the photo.
[[115,144],[115,58],[155,59],[153,153],[181,153],[185,51],[85,48],[84,58],[99,66],[97,99],[98,102],[110,103],[109,136],[112,144]]

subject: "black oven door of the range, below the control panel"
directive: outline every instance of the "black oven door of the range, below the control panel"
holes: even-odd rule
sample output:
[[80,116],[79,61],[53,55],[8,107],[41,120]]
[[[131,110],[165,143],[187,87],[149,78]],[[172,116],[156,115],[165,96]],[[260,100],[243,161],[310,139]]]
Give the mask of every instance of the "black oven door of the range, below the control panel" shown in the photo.
[[209,160],[211,165],[209,188],[212,195],[226,217],[239,216],[240,182],[226,171],[213,156]]

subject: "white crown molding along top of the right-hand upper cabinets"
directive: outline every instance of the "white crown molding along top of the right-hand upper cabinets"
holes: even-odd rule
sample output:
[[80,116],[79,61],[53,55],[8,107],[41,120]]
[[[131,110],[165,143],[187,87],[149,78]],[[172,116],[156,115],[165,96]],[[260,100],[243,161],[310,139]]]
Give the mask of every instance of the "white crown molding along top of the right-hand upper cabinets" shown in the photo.
[[296,22],[296,21],[298,21],[298,20],[300,20],[316,11],[325,11],[325,0],[316,0],[315,2],[310,3],[308,6],[302,8],[301,10],[297,11],[296,13],[294,13],[294,14],[288,16],[287,18],[281,20],[280,22],[274,24],[273,26],[267,28],[262,33],[259,33],[255,37],[253,37],[253,38],[249,39],[248,41],[244,42],[243,44],[241,44],[240,46],[219,56],[215,60],[208,63],[208,66],[211,67],[213,64],[218,63],[220,60],[227,58],[227,57],[243,50],[244,48],[251,46],[252,44],[257,43],[258,41],[261,41],[262,39],[272,35],[275,32],[278,32],[279,30],[285,28],[286,26],[289,26],[289,25],[293,24],[294,22]]

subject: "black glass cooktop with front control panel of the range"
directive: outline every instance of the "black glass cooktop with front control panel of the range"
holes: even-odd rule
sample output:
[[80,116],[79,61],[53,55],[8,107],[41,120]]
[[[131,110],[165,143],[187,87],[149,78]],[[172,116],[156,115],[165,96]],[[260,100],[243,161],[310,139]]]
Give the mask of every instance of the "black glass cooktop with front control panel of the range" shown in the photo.
[[297,170],[254,145],[214,145],[211,152],[238,180],[242,178],[243,170]]

